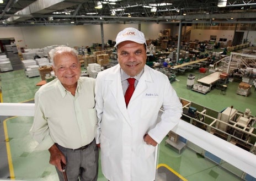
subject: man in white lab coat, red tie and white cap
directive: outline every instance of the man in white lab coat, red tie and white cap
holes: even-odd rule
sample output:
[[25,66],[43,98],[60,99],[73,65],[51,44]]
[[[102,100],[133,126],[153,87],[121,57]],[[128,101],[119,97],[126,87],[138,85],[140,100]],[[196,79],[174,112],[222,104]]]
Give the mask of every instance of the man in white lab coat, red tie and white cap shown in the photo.
[[[156,145],[182,116],[182,104],[167,76],[145,65],[146,46],[141,31],[120,31],[115,45],[119,64],[96,79],[96,142],[102,172],[110,181],[153,181]],[[135,91],[126,106],[127,78],[135,78]],[[158,120],[161,107],[164,113]]]

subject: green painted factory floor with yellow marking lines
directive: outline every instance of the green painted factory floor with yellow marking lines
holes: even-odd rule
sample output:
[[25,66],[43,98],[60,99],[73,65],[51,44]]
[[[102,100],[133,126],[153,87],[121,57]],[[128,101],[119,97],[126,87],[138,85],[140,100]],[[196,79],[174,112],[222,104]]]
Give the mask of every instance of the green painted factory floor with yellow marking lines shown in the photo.
[[[238,82],[228,83],[226,95],[220,94],[221,90],[218,89],[212,89],[207,94],[201,94],[187,89],[186,83],[189,74],[195,75],[195,80],[204,76],[198,70],[177,75],[177,80],[172,82],[172,86],[179,97],[216,111],[222,111],[228,106],[233,106],[239,111],[250,108],[252,114],[256,115],[254,87],[252,87],[252,93],[248,97],[236,94]],[[3,102],[33,102],[34,94],[39,89],[36,83],[41,80],[40,77],[28,78],[24,70],[0,73],[0,76]],[[55,168],[49,164],[49,152],[34,151],[36,143],[29,135],[32,122],[33,117],[0,116],[0,179],[58,180]],[[161,168],[158,181],[243,180],[189,148],[185,148],[179,154],[177,150],[166,146],[164,140],[159,145],[158,164],[158,169]],[[163,173],[165,172],[162,171],[163,167],[167,168],[164,169],[166,172],[172,171],[178,177],[170,179],[167,176],[170,173]],[[106,180],[100,168],[98,180]]]

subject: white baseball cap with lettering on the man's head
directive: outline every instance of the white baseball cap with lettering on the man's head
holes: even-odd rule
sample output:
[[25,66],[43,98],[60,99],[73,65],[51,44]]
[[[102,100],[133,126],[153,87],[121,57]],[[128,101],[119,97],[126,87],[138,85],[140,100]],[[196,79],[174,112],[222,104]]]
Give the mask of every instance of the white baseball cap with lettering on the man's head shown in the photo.
[[136,43],[144,44],[147,46],[145,36],[143,32],[138,31],[136,28],[125,28],[120,31],[116,36],[116,44],[115,47],[119,45],[119,43],[124,41],[134,41]]

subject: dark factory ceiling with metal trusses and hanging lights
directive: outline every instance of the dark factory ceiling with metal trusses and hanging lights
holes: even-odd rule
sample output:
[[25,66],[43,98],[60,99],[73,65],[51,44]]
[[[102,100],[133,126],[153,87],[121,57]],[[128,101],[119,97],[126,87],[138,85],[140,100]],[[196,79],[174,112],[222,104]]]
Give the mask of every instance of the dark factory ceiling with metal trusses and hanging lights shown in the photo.
[[0,26],[256,23],[256,0],[1,1]]

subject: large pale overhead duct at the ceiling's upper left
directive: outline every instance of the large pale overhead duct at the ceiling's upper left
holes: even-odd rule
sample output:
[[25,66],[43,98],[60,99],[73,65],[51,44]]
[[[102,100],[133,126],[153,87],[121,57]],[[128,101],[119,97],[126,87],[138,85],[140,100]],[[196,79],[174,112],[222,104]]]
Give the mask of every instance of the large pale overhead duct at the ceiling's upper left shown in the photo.
[[[66,9],[68,7],[76,6],[83,3],[83,0],[37,0],[22,10],[19,10],[16,15],[33,15],[33,14],[47,14],[56,12],[57,10]],[[14,21],[24,21],[30,19],[28,17],[10,17],[6,21],[12,23]]]

